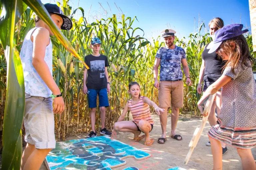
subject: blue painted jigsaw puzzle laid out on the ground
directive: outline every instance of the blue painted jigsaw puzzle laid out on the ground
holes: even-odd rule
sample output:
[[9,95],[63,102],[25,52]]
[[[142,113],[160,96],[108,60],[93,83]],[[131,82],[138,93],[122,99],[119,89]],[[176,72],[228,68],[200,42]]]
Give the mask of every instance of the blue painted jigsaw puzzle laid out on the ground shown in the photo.
[[124,158],[141,160],[150,156],[149,153],[123,142],[110,140],[109,136],[98,136],[57,142],[56,148],[46,156],[46,161],[50,170],[111,170],[126,164],[122,160]]

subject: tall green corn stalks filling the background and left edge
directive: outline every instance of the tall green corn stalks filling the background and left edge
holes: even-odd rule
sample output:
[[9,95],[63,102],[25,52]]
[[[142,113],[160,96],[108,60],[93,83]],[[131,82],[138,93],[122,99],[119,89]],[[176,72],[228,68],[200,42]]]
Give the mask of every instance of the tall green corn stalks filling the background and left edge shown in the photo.
[[[70,31],[62,32],[56,30],[38,0],[2,0],[3,5],[0,2],[0,134],[3,127],[3,169],[6,167],[7,169],[16,169],[19,165],[14,165],[10,160],[15,160],[17,163],[20,162],[21,157],[21,128],[25,99],[19,51],[27,32],[35,26],[33,12],[50,25],[56,35],[51,37],[53,77],[63,94],[66,106],[63,114],[54,116],[58,139],[65,140],[67,135],[76,135],[90,130],[88,99],[82,93],[81,88],[83,88],[84,69],[88,69],[84,63],[84,57],[92,53],[91,38],[98,37],[101,40],[100,53],[106,55],[110,63],[108,72],[111,92],[108,95],[110,107],[106,109],[106,128],[112,130],[125,103],[130,99],[131,96],[127,90],[131,81],[137,81],[140,84],[141,95],[149,97],[158,104],[158,90],[153,87],[152,69],[157,50],[164,46],[164,43],[160,42],[160,37],[149,43],[143,38],[144,35],[138,35],[138,30],[140,33],[144,32],[140,28],[133,28],[137,17],[131,18],[125,15],[117,17],[119,15],[113,14],[104,19],[97,17],[98,19],[88,23],[83,8],[72,9],[68,2],[68,0],[57,2],[64,14],[73,21],[73,28]],[[30,9],[27,8],[27,5]],[[3,9],[6,13],[2,13]],[[82,15],[76,19],[74,16],[78,11]],[[186,51],[193,83],[192,86],[187,86],[184,79],[183,111],[193,111],[191,116],[198,116],[196,103],[201,95],[197,93],[196,86],[202,61],[201,54],[204,46],[211,41],[205,30],[207,28],[204,23],[201,23],[197,32],[190,34],[187,38],[178,39],[176,37],[175,39],[175,44],[183,47]],[[245,37],[251,54],[255,58],[256,53],[252,51],[252,37],[249,34]],[[254,63],[253,70],[255,71],[255,69]],[[9,79],[9,76],[12,78]],[[153,110],[151,111],[153,113]],[[129,120],[129,116],[126,116],[125,120]],[[100,125],[98,108],[96,130],[100,129]],[[7,134],[13,135],[8,136]],[[1,137],[0,135],[0,141]],[[15,142],[16,144],[14,144]],[[0,150],[1,146],[0,144]]]

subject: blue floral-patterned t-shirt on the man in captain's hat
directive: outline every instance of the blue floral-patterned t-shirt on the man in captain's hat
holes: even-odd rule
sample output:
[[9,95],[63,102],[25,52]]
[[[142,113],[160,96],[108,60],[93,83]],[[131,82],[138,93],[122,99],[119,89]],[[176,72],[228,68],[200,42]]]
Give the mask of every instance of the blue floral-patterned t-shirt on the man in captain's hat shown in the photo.
[[186,58],[183,48],[175,45],[174,49],[169,49],[164,46],[158,49],[156,57],[161,59],[160,81],[182,79],[181,60]]

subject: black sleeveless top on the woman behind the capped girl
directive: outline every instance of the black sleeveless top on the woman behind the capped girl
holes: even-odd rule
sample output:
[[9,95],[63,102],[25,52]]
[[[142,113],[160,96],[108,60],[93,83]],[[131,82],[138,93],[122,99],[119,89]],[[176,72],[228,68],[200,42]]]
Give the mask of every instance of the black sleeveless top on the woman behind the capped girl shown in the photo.
[[208,45],[205,46],[202,53],[202,58],[205,61],[204,81],[214,82],[222,75],[223,66],[226,62],[218,56],[216,50],[209,54],[208,51],[210,49],[207,49]]

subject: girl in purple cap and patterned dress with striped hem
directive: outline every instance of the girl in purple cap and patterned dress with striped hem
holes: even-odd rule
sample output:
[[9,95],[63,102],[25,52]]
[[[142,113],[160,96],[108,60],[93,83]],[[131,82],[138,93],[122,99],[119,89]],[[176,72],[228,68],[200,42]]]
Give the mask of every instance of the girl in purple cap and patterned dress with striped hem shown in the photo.
[[[217,123],[209,130],[213,155],[213,169],[222,169],[221,142],[236,147],[243,169],[256,170],[251,148],[256,146],[256,84],[252,61],[242,24],[226,25],[215,32],[215,39],[208,46],[223,60],[222,76],[210,85],[198,108],[203,113],[203,103],[209,95],[222,87],[222,107]],[[203,115],[206,116],[206,115]]]

